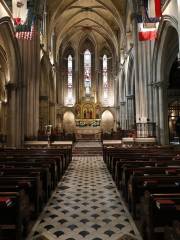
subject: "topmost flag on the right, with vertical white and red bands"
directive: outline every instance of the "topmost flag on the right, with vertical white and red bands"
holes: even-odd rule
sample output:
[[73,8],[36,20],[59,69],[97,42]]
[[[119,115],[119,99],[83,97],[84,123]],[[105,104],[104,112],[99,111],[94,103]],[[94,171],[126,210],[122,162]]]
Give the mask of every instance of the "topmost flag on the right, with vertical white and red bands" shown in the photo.
[[[150,18],[160,18],[162,16],[161,0],[145,0],[148,5],[148,15]],[[147,2],[148,1],[148,2]]]

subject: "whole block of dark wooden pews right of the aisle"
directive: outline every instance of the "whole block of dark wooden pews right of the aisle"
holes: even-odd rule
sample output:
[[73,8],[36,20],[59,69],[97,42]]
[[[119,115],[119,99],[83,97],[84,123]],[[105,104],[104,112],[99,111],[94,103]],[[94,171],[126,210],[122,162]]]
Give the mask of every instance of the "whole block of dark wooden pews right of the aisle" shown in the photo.
[[[103,145],[103,158],[143,239],[180,239],[180,151]],[[168,226],[168,227],[167,227]]]

